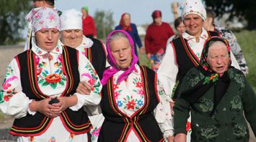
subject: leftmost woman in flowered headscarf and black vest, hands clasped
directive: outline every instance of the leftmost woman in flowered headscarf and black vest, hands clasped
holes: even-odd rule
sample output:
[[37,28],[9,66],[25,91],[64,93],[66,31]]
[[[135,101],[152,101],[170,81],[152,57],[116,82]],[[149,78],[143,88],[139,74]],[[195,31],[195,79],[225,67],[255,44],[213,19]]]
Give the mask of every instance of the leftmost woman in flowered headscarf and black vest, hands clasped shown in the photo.
[[[87,141],[92,128],[82,106],[100,103],[100,79],[81,52],[58,42],[60,18],[55,9],[32,9],[32,49],[14,57],[0,92],[0,109],[15,120],[17,141]],[[79,60],[78,60],[79,59]],[[86,95],[76,93],[88,82]]]

